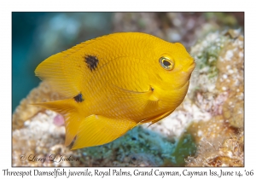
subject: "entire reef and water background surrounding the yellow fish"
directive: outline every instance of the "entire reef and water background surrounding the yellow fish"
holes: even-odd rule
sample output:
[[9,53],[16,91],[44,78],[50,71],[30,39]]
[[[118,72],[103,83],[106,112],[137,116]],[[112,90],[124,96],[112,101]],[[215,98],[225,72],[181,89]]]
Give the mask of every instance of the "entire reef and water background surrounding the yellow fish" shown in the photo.
[[[106,145],[71,151],[60,116],[32,107],[61,95],[34,70],[50,55],[113,32],[183,43],[195,58],[188,95],[168,117]],[[243,166],[244,13],[12,13],[13,166]],[[80,159],[33,162],[20,155]],[[230,157],[230,153],[232,153]]]

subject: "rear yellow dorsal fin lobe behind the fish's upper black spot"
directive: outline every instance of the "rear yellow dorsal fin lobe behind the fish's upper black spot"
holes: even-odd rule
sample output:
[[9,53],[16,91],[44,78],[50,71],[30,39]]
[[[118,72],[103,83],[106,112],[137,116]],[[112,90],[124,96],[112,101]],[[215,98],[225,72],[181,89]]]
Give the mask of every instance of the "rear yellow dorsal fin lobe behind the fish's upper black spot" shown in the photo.
[[50,56],[38,65],[36,75],[51,84],[51,86],[67,98],[79,94],[86,78],[85,54],[81,43],[72,49]]

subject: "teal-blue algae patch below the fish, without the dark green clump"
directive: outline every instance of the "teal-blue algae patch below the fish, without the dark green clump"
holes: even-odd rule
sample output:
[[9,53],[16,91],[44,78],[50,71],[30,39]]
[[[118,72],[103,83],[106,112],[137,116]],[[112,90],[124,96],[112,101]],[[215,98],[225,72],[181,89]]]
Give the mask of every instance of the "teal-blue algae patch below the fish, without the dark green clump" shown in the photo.
[[[125,136],[98,147],[83,148],[84,156],[92,159],[113,159],[129,161],[143,158],[151,165],[162,165],[164,159],[171,160],[176,144],[167,137],[152,130],[138,126]],[[137,156],[137,157],[134,157]]]

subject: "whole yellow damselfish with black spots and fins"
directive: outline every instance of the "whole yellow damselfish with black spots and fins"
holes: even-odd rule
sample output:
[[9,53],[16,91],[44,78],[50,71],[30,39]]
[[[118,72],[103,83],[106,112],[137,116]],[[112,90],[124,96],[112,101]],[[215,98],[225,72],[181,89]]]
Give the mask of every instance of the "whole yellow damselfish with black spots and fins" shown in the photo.
[[183,101],[194,59],[181,43],[140,32],[95,38],[50,56],[36,68],[65,100],[38,103],[65,118],[72,149],[98,146],[137,124],[154,124]]

